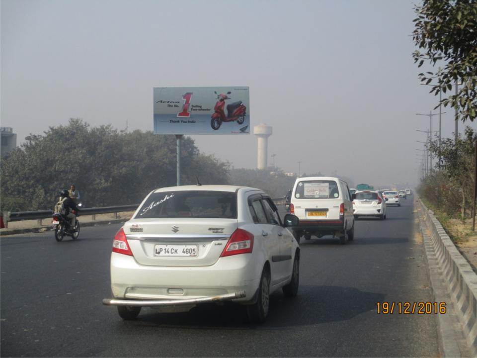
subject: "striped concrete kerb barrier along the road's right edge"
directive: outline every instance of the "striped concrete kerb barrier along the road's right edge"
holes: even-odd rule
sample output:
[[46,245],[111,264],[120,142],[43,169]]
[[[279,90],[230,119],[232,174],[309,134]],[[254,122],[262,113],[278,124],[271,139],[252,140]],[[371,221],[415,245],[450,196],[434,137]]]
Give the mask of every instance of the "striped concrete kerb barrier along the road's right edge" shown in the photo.
[[446,234],[442,224],[417,198],[424,213],[422,219],[430,231],[430,243],[435,254],[464,337],[473,357],[477,356],[477,274]]

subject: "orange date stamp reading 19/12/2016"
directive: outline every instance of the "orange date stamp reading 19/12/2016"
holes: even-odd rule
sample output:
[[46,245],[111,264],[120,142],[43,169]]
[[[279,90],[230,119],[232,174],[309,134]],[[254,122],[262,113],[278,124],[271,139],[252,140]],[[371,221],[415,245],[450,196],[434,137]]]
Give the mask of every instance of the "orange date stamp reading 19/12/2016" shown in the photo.
[[445,302],[376,302],[377,314],[446,314]]

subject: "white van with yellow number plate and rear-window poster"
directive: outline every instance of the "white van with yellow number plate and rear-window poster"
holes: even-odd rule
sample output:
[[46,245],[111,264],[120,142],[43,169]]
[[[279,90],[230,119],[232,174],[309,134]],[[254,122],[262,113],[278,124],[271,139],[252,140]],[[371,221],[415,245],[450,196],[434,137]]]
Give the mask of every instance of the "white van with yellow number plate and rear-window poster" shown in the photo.
[[300,219],[298,238],[338,237],[340,244],[354,238],[353,195],[348,184],[333,177],[298,178],[293,186],[290,213]]

